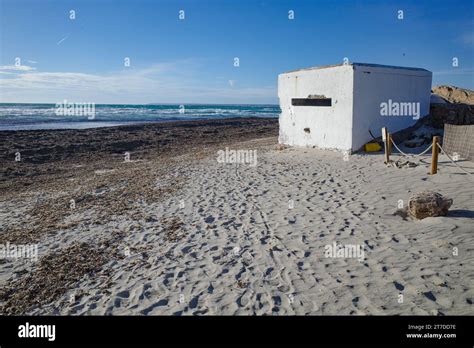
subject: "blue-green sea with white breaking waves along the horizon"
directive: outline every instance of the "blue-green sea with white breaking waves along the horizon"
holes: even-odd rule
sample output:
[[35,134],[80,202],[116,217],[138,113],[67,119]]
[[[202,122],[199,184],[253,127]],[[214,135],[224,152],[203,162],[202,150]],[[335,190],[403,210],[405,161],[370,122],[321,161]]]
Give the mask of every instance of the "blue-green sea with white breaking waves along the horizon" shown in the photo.
[[96,104],[91,107],[68,103],[0,103],[0,131],[84,129],[179,120],[277,118],[279,114],[278,105]]

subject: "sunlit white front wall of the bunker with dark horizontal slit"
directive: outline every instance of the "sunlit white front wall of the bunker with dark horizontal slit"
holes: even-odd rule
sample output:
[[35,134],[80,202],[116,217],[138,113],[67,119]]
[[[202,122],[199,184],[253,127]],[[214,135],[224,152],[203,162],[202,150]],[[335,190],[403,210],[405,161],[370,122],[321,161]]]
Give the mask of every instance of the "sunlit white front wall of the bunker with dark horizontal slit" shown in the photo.
[[[350,150],[352,145],[353,70],[351,65],[307,69],[278,76],[279,143]],[[292,98],[332,98],[332,106],[292,106]],[[292,113],[293,111],[293,113]],[[310,129],[310,133],[304,131]]]

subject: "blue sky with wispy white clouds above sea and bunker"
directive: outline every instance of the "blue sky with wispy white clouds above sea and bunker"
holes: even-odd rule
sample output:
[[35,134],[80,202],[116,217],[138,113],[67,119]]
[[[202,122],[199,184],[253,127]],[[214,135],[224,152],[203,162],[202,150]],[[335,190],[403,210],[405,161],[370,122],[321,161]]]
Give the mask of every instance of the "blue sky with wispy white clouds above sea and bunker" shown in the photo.
[[0,102],[277,104],[344,58],[474,89],[474,0],[0,0]]

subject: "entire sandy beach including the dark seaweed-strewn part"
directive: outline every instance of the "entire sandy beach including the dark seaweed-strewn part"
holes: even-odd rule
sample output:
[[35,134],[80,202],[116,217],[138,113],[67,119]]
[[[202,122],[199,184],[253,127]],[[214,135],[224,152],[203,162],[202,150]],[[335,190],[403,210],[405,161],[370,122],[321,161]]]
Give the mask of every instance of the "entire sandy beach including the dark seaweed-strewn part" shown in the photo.
[[[0,312],[474,314],[467,175],[277,137],[276,119],[0,132],[0,244],[38,250],[0,260]],[[395,214],[427,189],[448,216]],[[363,254],[328,257],[334,243]]]

